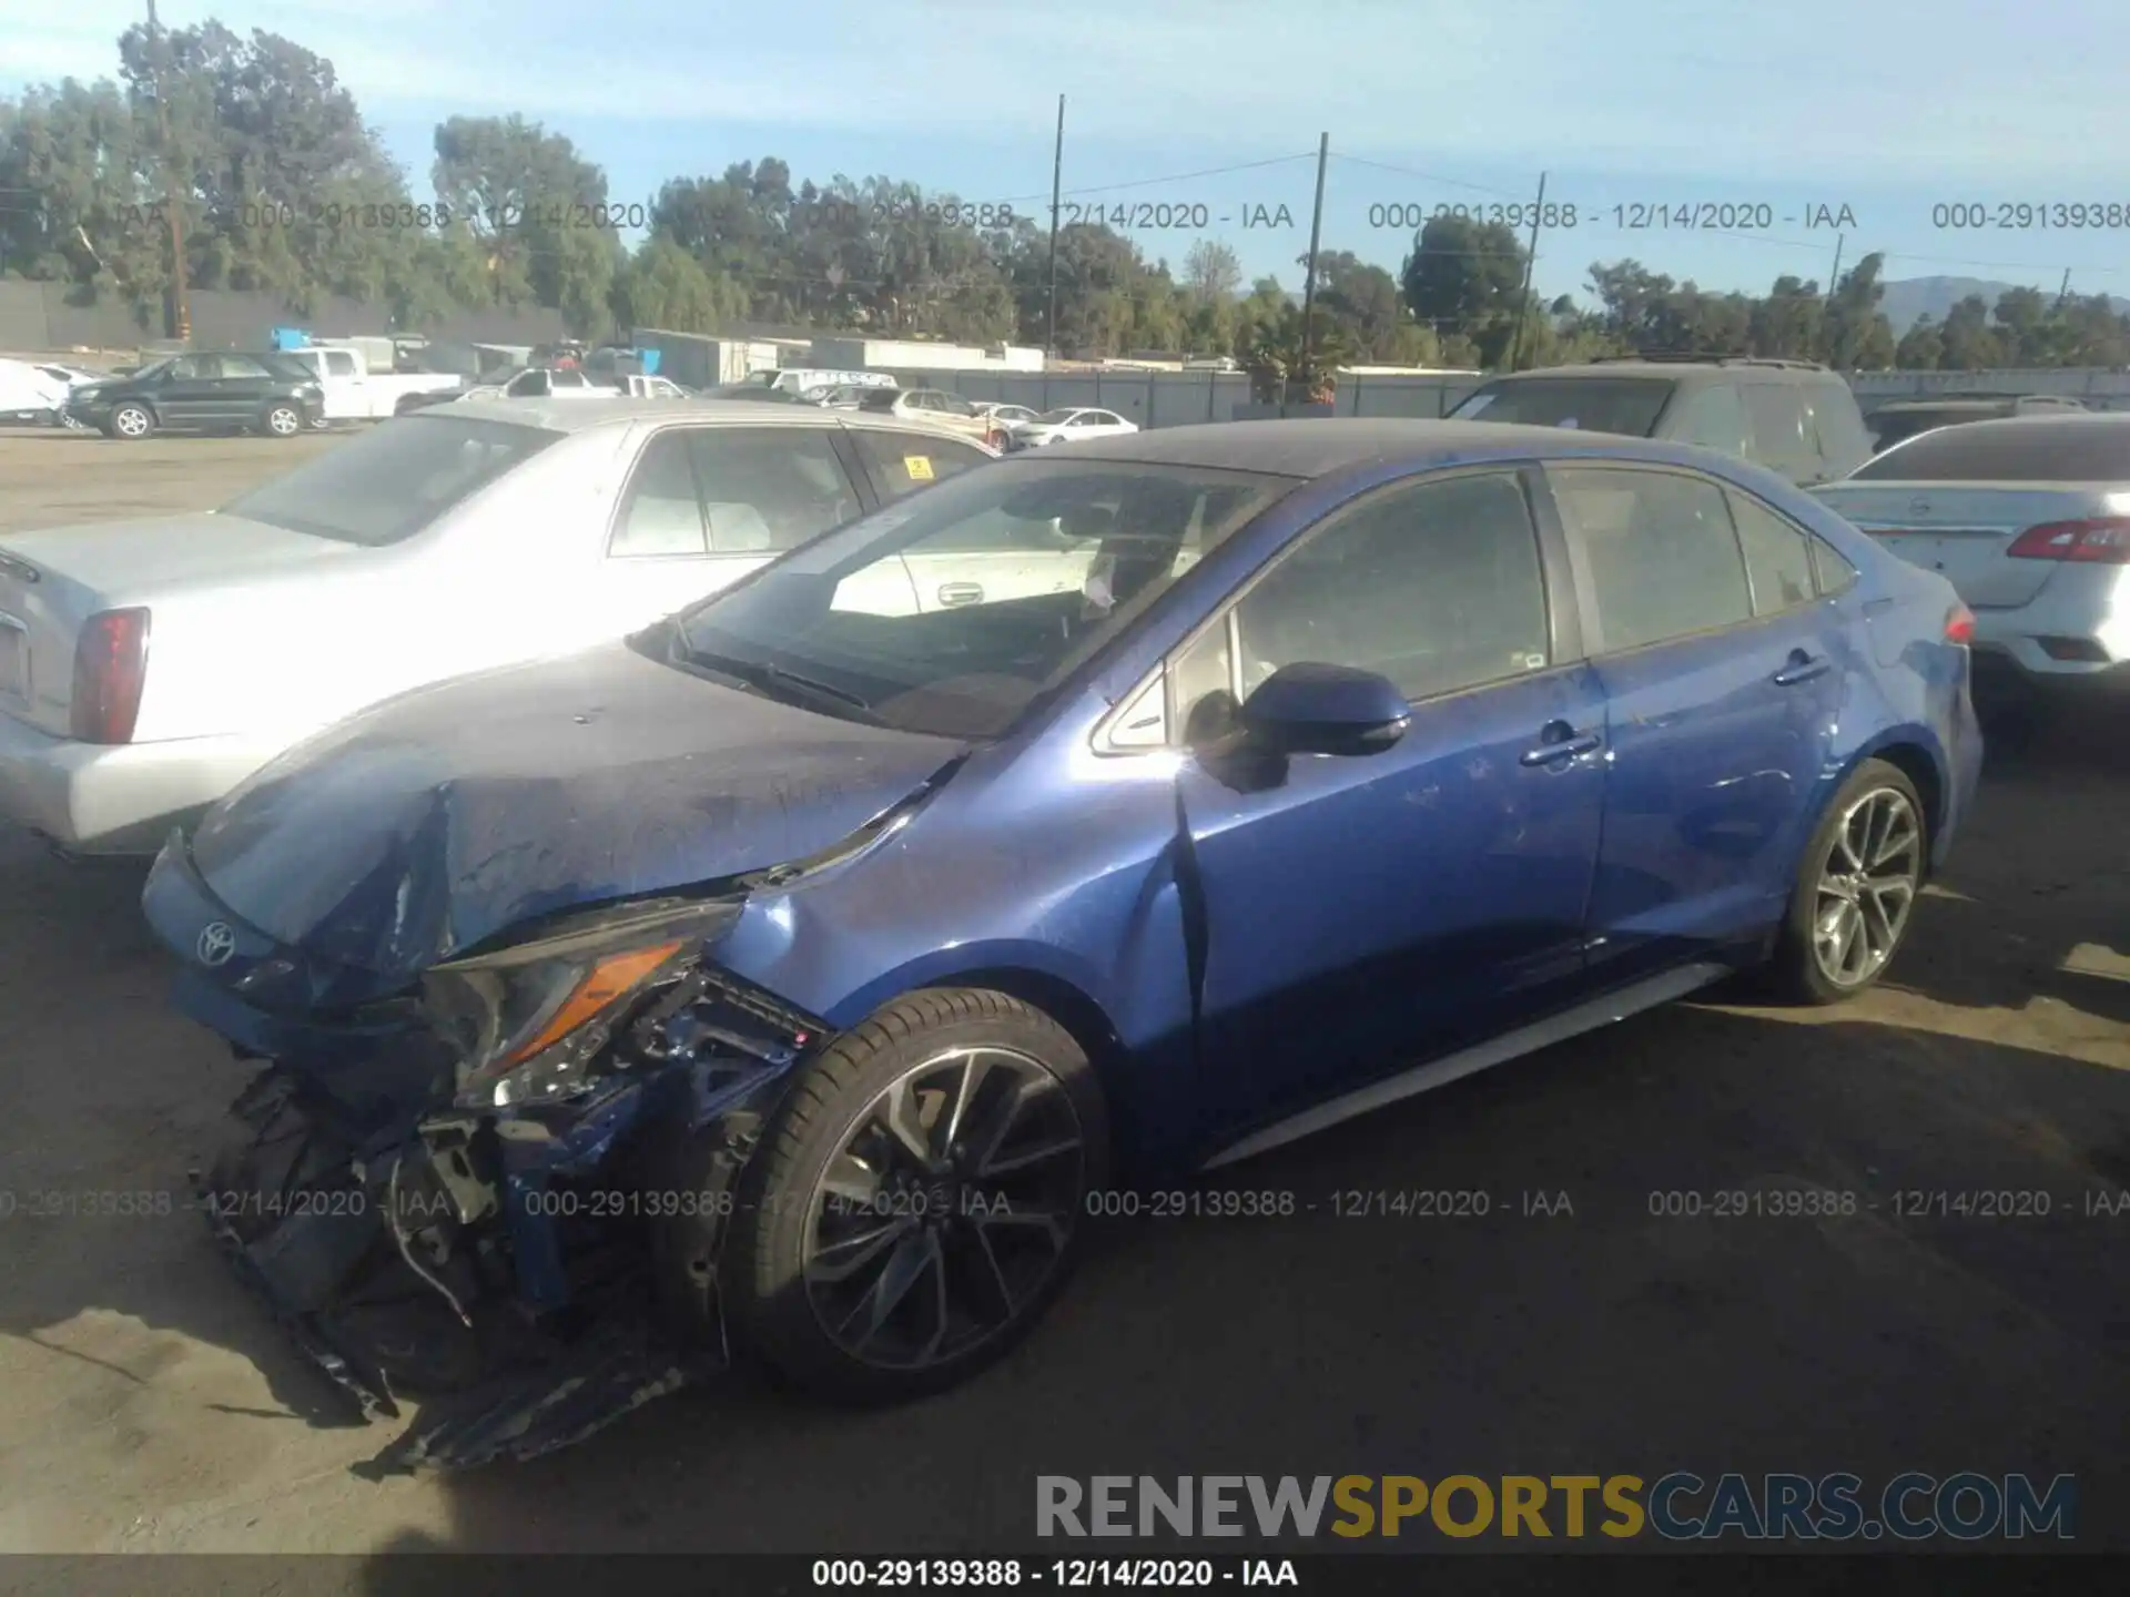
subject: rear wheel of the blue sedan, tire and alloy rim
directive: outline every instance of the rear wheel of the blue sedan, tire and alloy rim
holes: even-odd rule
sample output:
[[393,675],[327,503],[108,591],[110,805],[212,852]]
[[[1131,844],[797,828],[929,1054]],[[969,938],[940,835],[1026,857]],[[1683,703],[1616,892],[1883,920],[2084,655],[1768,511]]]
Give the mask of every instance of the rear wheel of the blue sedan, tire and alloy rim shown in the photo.
[[1923,890],[1930,824],[1900,767],[1864,760],[1804,850],[1768,975],[1793,1003],[1866,992],[1908,935]]

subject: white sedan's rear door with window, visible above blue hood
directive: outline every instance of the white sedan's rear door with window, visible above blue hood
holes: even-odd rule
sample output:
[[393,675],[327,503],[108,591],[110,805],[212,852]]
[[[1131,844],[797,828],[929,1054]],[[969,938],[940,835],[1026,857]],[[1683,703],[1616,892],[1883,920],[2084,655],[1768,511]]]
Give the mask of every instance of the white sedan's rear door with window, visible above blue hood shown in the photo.
[[616,505],[590,600],[620,637],[861,509],[833,428],[662,428]]

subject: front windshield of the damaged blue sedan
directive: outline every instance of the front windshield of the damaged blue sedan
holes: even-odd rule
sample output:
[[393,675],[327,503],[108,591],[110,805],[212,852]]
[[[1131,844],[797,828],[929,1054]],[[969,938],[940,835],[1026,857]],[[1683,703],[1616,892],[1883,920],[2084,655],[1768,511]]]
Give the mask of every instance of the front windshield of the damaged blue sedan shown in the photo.
[[829,713],[997,737],[1287,485],[1120,462],[986,466],[707,598],[675,643]]

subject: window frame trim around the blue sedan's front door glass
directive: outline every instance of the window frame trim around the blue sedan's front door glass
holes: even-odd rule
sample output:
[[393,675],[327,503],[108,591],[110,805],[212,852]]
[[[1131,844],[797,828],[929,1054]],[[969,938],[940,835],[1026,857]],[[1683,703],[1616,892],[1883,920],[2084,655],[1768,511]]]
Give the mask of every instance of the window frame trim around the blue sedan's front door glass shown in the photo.
[[[1336,530],[1348,517],[1365,513],[1367,507],[1374,505],[1376,500],[1389,498],[1391,494],[1397,492],[1408,492],[1429,483],[1444,483],[1463,477],[1510,477],[1517,490],[1523,494],[1523,507],[1525,513],[1531,517],[1531,534],[1538,545],[1538,583],[1540,583],[1540,598],[1546,607],[1549,660],[1540,671],[1521,671],[1502,677],[1491,677],[1487,681],[1474,681],[1463,688],[1448,688],[1444,692],[1427,694],[1425,698],[1410,698],[1406,703],[1410,703],[1414,709],[1421,709],[1423,705],[1442,705],[1451,698],[1463,698],[1465,694],[1489,692],[1510,681],[1542,681],[1544,677],[1557,675],[1561,671],[1578,669],[1585,660],[1585,649],[1583,649],[1583,630],[1578,613],[1580,605],[1574,603],[1576,577],[1566,560],[1566,545],[1559,537],[1561,532],[1559,520],[1551,520],[1549,526],[1549,517],[1553,517],[1553,503],[1551,496],[1540,498],[1544,494],[1544,483],[1538,481],[1538,466],[1540,466],[1538,460],[1474,460],[1470,464],[1448,466],[1448,468],[1421,466],[1419,471],[1408,471],[1399,477],[1393,477],[1391,481],[1365,488],[1353,498],[1340,500],[1329,511],[1318,515],[1314,522],[1297,530],[1291,539],[1287,539],[1287,543],[1282,543],[1278,549],[1265,556],[1265,560],[1255,571],[1246,573],[1233,588],[1229,588],[1227,594],[1223,594],[1220,603],[1214,607],[1214,611],[1203,622],[1193,626],[1182,639],[1178,639],[1176,645],[1161,656],[1161,660],[1152,666],[1152,671],[1148,671],[1137,684],[1131,686],[1129,692],[1125,692],[1118,698],[1116,709],[1110,715],[1105,715],[1101,724],[1095,728],[1097,745],[1101,745],[1101,741],[1108,737],[1112,722],[1118,720],[1118,713],[1125,707],[1133,705],[1140,698],[1140,694],[1146,692],[1146,686],[1159,675],[1163,677],[1161,701],[1163,701],[1163,715],[1167,720],[1165,728],[1167,743],[1163,745],[1161,752],[1174,754],[1180,747],[1184,747],[1180,743],[1184,730],[1182,715],[1178,715],[1178,705],[1174,703],[1176,662],[1182,656],[1199,647],[1199,643],[1214,628],[1225,630],[1229,692],[1240,698],[1242,694],[1238,692],[1238,688],[1242,679],[1240,677],[1242,649],[1238,647],[1240,639],[1238,639],[1235,615],[1242,609],[1242,603],[1261,581],[1265,581],[1274,571],[1278,571],[1291,556],[1295,556],[1308,543]],[[1129,747],[1110,752],[1127,756],[1127,754],[1152,754],[1157,750]]]

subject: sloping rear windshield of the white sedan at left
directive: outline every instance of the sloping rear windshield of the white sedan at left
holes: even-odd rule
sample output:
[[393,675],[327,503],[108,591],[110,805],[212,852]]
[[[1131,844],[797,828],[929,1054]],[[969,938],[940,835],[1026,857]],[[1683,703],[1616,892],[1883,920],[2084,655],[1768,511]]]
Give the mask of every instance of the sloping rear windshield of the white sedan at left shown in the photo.
[[398,543],[560,437],[424,411],[232,498],[222,513],[339,543]]

